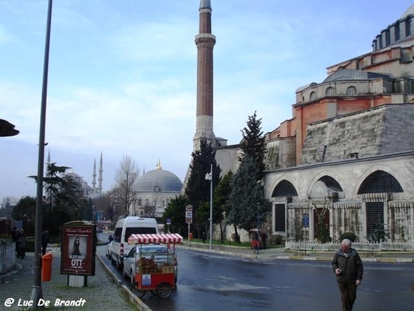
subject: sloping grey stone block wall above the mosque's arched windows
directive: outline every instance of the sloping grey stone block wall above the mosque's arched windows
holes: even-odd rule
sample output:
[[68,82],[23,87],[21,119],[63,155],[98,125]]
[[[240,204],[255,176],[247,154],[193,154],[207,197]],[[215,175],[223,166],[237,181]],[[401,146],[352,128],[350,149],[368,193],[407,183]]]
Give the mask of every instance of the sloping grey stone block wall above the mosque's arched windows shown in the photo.
[[308,124],[301,164],[414,149],[414,104],[390,104]]

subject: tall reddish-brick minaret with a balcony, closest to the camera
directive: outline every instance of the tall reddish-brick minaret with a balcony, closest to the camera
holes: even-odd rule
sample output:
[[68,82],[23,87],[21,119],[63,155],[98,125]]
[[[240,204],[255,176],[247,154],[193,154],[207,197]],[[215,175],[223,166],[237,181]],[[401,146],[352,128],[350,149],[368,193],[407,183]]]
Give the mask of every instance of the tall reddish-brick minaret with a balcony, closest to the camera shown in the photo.
[[215,35],[211,34],[211,3],[201,0],[199,8],[199,34],[197,46],[197,120],[193,149],[199,149],[201,139],[215,140],[213,133],[213,47]]

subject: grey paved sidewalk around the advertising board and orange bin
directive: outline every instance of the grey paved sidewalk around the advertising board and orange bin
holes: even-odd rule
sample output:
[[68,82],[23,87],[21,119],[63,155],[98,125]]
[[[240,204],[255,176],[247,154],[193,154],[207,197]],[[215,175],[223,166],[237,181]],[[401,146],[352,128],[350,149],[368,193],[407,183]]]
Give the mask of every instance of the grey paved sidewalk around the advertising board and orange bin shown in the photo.
[[[41,282],[44,301],[50,304],[47,310],[146,310],[130,290],[121,285],[116,276],[106,269],[106,264],[97,255],[95,276],[88,276],[87,287],[68,287],[68,275],[60,273],[60,249],[48,247],[52,253],[52,279]],[[34,284],[34,253],[26,258],[16,258],[16,267],[8,274],[0,274],[0,310],[28,310]],[[19,302],[20,300],[20,302]],[[6,305],[6,301],[10,306]],[[72,302],[72,306],[68,306]],[[61,306],[57,306],[57,304]],[[26,306],[25,306],[26,304]],[[66,305],[66,306],[65,306]]]

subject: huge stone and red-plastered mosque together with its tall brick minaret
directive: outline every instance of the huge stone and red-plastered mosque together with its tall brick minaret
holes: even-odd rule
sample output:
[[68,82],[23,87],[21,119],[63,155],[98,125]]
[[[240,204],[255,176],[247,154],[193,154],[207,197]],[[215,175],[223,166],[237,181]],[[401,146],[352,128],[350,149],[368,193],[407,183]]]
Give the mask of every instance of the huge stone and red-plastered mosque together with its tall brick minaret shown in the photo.
[[[197,46],[197,129],[222,174],[238,167],[238,145],[213,133],[211,1],[201,0]],[[269,235],[315,238],[323,219],[334,241],[385,230],[414,240],[414,5],[373,39],[372,51],[327,68],[297,88],[293,116],[266,133],[264,191],[273,202]],[[413,169],[411,169],[413,168]],[[233,232],[226,229],[226,238]]]

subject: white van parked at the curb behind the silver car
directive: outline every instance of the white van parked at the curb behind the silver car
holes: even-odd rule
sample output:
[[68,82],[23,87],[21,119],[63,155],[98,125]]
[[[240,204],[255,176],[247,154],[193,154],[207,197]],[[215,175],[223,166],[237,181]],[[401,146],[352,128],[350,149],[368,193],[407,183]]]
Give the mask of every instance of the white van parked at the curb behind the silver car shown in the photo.
[[117,221],[109,258],[112,263],[115,263],[118,270],[121,270],[124,264],[124,254],[128,254],[130,249],[135,246],[128,244],[128,238],[131,234],[159,234],[157,220],[128,216]]

